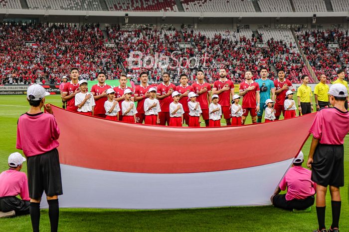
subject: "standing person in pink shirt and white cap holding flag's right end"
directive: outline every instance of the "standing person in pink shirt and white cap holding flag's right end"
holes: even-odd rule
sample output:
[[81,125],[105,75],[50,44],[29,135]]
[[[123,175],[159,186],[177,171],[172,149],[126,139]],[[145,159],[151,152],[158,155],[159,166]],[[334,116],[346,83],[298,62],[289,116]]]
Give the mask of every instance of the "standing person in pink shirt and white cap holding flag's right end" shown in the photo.
[[[325,209],[327,187],[330,186],[332,225],[328,232],[339,232],[341,192],[344,186],[344,138],[349,132],[349,112],[344,106],[348,90],[333,84],[329,91],[333,108],[322,108],[315,116],[309,132],[313,134],[307,166],[312,169],[312,180],[317,183],[316,213],[319,232],[327,232]],[[316,231],[315,231],[316,232]]]

